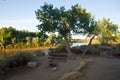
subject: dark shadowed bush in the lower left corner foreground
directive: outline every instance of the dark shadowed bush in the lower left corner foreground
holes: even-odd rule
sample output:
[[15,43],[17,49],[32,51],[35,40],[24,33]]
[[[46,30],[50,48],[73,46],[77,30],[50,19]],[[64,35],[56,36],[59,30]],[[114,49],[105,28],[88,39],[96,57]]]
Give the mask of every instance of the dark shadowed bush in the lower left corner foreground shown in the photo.
[[35,60],[32,54],[29,53],[16,53],[13,56],[0,59],[0,77],[10,69],[24,66],[28,61]]

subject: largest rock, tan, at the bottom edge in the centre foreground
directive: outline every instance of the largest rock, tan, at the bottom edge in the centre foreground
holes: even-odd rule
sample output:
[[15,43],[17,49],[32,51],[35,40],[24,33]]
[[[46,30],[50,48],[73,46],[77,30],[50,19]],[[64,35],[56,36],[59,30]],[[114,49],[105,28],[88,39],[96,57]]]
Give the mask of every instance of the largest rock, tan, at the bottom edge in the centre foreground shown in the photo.
[[63,74],[60,80],[76,80],[80,75],[81,73],[79,73],[78,71],[73,71],[73,72]]

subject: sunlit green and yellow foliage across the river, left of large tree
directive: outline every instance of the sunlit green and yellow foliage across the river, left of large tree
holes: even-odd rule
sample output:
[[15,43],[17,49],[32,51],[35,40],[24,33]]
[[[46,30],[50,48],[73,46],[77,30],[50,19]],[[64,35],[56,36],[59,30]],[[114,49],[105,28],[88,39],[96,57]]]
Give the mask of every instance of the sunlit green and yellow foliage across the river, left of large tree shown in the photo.
[[12,27],[3,27],[0,28],[0,50],[43,46],[47,38],[46,34],[40,32],[18,31]]

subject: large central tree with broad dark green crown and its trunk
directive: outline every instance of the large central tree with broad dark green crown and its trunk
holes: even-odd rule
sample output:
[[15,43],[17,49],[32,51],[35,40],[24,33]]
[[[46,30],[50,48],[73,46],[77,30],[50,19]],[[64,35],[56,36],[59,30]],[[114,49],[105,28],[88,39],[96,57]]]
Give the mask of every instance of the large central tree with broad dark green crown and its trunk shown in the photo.
[[58,32],[66,41],[66,50],[70,55],[69,39],[72,33],[89,33],[94,30],[94,21],[91,14],[79,5],[65,10],[64,7],[54,8],[53,5],[45,3],[35,11],[40,24],[37,26],[42,32]]

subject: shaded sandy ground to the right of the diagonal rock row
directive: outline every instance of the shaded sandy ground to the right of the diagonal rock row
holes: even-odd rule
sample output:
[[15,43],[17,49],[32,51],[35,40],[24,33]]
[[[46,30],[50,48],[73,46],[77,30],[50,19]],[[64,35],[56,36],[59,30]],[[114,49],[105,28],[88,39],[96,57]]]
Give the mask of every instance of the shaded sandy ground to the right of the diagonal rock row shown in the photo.
[[94,60],[77,80],[120,80],[120,59],[94,57]]

